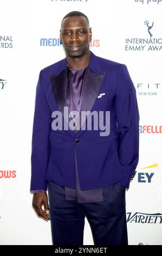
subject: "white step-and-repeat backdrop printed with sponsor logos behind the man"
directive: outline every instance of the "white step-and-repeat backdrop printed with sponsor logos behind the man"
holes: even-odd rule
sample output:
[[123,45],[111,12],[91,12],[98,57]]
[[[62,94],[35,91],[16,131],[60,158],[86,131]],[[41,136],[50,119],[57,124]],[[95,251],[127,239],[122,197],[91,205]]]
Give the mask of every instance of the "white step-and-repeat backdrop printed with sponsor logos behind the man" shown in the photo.
[[[31,136],[41,69],[65,57],[59,31],[85,13],[90,50],[127,65],[140,112],[140,157],[126,210],[129,245],[162,245],[162,0],[0,0],[0,244],[51,245],[30,193]],[[85,218],[84,245],[93,245]],[[118,235],[118,234],[116,234]]]

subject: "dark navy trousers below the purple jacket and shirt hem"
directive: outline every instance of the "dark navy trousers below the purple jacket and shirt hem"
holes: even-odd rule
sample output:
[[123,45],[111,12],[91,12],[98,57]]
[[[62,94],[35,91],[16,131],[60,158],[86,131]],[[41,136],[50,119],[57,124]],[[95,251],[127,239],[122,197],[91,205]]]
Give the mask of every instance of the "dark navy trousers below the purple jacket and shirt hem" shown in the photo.
[[125,187],[116,182],[102,192],[102,202],[81,204],[66,200],[64,187],[48,181],[53,245],[83,245],[85,217],[94,245],[128,245]]

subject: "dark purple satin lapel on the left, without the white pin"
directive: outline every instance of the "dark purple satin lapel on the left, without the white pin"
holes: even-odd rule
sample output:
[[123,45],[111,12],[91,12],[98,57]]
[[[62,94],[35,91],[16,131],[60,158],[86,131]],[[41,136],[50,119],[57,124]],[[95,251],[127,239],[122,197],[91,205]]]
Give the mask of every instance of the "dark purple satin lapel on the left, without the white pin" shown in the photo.
[[67,69],[64,69],[59,76],[51,75],[50,82],[53,88],[56,104],[63,115],[66,106],[66,81]]

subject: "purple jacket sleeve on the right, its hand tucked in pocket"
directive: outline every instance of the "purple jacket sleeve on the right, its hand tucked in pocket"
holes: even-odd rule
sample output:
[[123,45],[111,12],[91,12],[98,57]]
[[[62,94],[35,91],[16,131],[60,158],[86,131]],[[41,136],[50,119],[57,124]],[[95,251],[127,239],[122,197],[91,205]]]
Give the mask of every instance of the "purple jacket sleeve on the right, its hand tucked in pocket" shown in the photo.
[[124,64],[120,65],[116,81],[115,110],[118,156],[124,176],[121,182],[129,188],[139,160],[139,110],[135,87]]

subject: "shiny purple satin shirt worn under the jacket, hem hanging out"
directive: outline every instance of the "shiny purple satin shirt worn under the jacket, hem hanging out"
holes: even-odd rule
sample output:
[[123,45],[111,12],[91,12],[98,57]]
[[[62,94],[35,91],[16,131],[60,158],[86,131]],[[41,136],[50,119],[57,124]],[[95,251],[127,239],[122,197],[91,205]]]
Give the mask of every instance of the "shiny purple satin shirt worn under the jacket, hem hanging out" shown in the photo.
[[[85,90],[87,68],[83,69],[70,69],[67,67],[67,92],[66,103],[69,111],[77,111],[80,113],[82,95]],[[94,203],[103,201],[102,188],[95,188],[93,190],[81,190],[79,176],[77,173],[77,163],[75,156],[76,166],[76,189],[64,187],[66,200],[77,200],[78,203]],[[44,190],[33,190],[32,193],[46,192]]]

